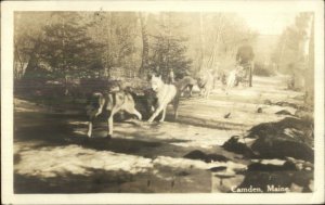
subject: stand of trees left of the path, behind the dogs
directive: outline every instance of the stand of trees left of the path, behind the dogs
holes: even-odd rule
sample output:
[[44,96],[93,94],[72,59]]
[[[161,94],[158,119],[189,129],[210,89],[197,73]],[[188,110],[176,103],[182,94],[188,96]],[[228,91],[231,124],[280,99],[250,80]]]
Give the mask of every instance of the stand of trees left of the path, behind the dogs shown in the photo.
[[181,78],[226,66],[256,36],[233,13],[23,12],[15,15],[15,78],[32,69],[139,77],[157,67]]

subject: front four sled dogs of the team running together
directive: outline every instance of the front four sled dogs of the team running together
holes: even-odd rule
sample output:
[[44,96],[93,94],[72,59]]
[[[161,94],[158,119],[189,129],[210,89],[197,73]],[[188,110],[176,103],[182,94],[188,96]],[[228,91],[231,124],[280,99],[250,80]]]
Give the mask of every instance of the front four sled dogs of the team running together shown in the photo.
[[[168,85],[162,81],[161,76],[157,77],[155,75],[152,75],[150,84],[151,89],[155,93],[156,102],[153,104],[153,114],[147,119],[147,121],[154,121],[160,113],[161,117],[159,118],[159,121],[164,121],[168,104],[173,105],[174,118],[177,118],[179,100],[181,94],[186,89],[190,90],[191,97],[193,87],[197,85],[200,88],[200,94],[207,99],[212,89],[213,76],[207,72],[203,74],[198,78],[198,80],[186,76],[174,85]],[[118,88],[110,88],[106,93],[92,93],[86,110],[87,116],[89,117],[88,137],[92,136],[94,119],[103,112],[107,112],[108,114],[108,138],[110,138],[113,134],[114,115],[116,113],[123,111],[129,114],[135,115],[140,120],[142,119],[141,113],[135,108],[135,102],[132,94],[126,90],[118,90]]]

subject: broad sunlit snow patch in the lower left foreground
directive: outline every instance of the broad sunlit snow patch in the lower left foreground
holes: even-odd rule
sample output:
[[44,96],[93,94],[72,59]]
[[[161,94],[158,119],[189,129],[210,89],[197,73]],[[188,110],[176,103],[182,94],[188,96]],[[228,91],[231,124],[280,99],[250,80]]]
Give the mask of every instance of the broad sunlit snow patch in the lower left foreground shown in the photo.
[[138,174],[153,168],[151,158],[78,145],[22,151],[21,157],[15,165],[17,174],[44,178],[66,174],[88,176],[93,169]]

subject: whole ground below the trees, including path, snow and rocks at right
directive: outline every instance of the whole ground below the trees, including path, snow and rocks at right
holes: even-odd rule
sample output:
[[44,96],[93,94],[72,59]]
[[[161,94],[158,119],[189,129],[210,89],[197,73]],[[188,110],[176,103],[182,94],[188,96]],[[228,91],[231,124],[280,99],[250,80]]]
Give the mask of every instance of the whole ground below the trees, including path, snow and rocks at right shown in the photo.
[[[15,99],[16,193],[310,192],[313,117],[282,77],[208,100],[183,98],[165,123],[96,121]],[[168,113],[172,113],[171,107]]]

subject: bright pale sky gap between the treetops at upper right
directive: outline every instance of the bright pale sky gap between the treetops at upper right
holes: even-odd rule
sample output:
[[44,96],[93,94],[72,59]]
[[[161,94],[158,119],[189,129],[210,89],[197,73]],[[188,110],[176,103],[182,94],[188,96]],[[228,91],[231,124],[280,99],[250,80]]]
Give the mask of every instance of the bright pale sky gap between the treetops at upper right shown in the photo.
[[297,13],[239,13],[247,25],[260,35],[281,35],[295,23]]

